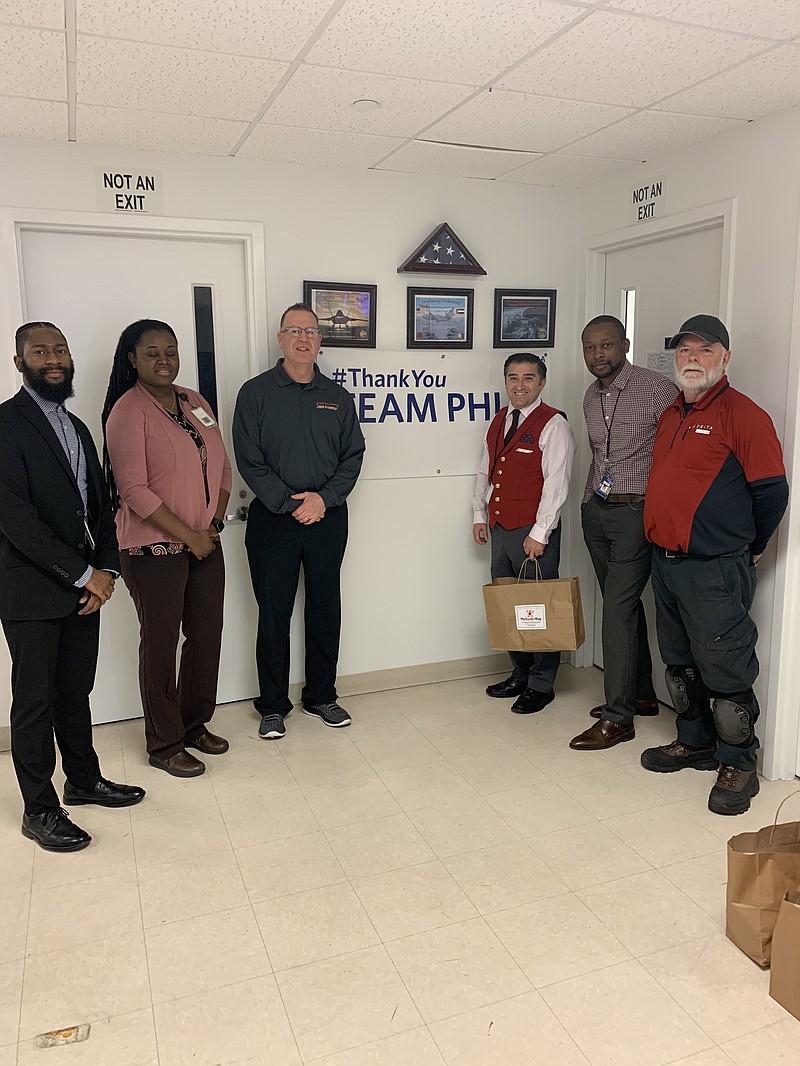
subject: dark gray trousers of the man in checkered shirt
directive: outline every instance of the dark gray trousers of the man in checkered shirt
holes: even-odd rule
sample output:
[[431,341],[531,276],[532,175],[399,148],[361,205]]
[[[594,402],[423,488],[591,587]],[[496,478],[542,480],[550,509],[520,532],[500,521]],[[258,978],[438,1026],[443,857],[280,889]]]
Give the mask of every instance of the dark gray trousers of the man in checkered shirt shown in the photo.
[[607,503],[594,495],[580,508],[603,593],[603,717],[609,722],[633,722],[634,700],[656,698],[642,605],[652,555],[643,516],[643,503]]

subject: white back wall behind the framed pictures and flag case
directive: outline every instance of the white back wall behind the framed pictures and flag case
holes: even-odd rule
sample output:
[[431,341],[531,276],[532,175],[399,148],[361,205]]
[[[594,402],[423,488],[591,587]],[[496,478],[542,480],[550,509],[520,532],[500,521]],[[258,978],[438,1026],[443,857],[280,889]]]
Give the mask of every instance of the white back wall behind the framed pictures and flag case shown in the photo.
[[[508,353],[491,350],[493,290],[557,289],[557,345],[546,399],[565,408],[574,424],[579,418],[580,389],[571,379],[570,356],[576,335],[577,193],[14,140],[0,142],[0,158],[5,206],[95,211],[95,166],[149,168],[162,174],[167,216],[262,222],[271,338],[283,309],[301,298],[304,278],[377,282],[378,348],[404,349],[405,288],[415,276],[398,275],[397,266],[446,220],[487,271],[467,282],[432,281],[476,290],[475,349],[464,357],[493,358],[494,387],[501,388]],[[91,293],[85,313],[92,313]],[[3,395],[18,387],[11,365],[14,325],[6,323],[7,362],[0,364]],[[80,366],[80,352],[75,356]],[[268,353],[259,353],[259,360],[266,367]],[[476,466],[482,429],[476,424]],[[576,474],[577,482],[582,477],[583,471]],[[363,481],[356,487],[343,570],[342,674],[489,651],[481,597],[489,560],[471,543],[471,492],[469,477]],[[564,572],[570,567],[565,559]],[[298,677],[295,664],[292,679]]]

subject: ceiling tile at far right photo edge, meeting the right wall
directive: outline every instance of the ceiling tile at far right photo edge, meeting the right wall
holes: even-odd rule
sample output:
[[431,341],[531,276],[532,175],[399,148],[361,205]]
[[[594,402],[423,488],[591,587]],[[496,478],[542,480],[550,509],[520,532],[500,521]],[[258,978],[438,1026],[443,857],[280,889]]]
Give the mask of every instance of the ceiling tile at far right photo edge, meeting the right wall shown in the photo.
[[757,55],[731,74],[687,88],[656,104],[657,111],[724,118],[759,118],[800,103],[800,48],[786,45]]

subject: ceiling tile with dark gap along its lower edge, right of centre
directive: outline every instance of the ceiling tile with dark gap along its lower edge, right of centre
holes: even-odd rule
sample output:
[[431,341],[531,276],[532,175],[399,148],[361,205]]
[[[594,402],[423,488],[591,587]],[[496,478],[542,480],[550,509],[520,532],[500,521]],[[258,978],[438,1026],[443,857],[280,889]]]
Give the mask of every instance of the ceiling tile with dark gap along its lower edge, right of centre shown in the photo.
[[430,140],[522,151],[554,151],[629,114],[624,108],[576,103],[525,93],[482,92],[431,129]]

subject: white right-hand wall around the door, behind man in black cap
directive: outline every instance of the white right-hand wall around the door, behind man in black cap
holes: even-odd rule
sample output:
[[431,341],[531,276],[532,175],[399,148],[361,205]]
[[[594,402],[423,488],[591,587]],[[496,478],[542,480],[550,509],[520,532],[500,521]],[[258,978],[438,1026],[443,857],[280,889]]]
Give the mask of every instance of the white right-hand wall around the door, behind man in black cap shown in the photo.
[[[637,166],[635,172],[587,190],[581,205],[581,238],[628,227],[631,187],[658,177],[666,178],[667,215],[729,198],[735,200],[727,322],[733,355],[729,374],[734,386],[772,417],[784,441],[791,481],[791,471],[800,461],[796,434],[800,352],[797,339],[793,344],[793,332],[798,328],[794,306],[800,217],[800,109],[654,158],[646,166]],[[641,224],[642,231],[647,226]],[[714,311],[687,307],[684,318],[707,310]],[[679,325],[675,322],[675,328]],[[797,648],[786,639],[790,621],[786,604],[793,595],[796,603],[800,594],[790,572],[793,559],[787,553],[789,545],[797,552],[796,524],[793,516],[784,519],[759,566],[753,612],[761,634],[757,693],[766,717],[759,732],[765,742],[765,769],[770,776],[790,776],[796,768],[793,737],[796,745],[798,688],[786,680],[791,657],[797,658]]]

